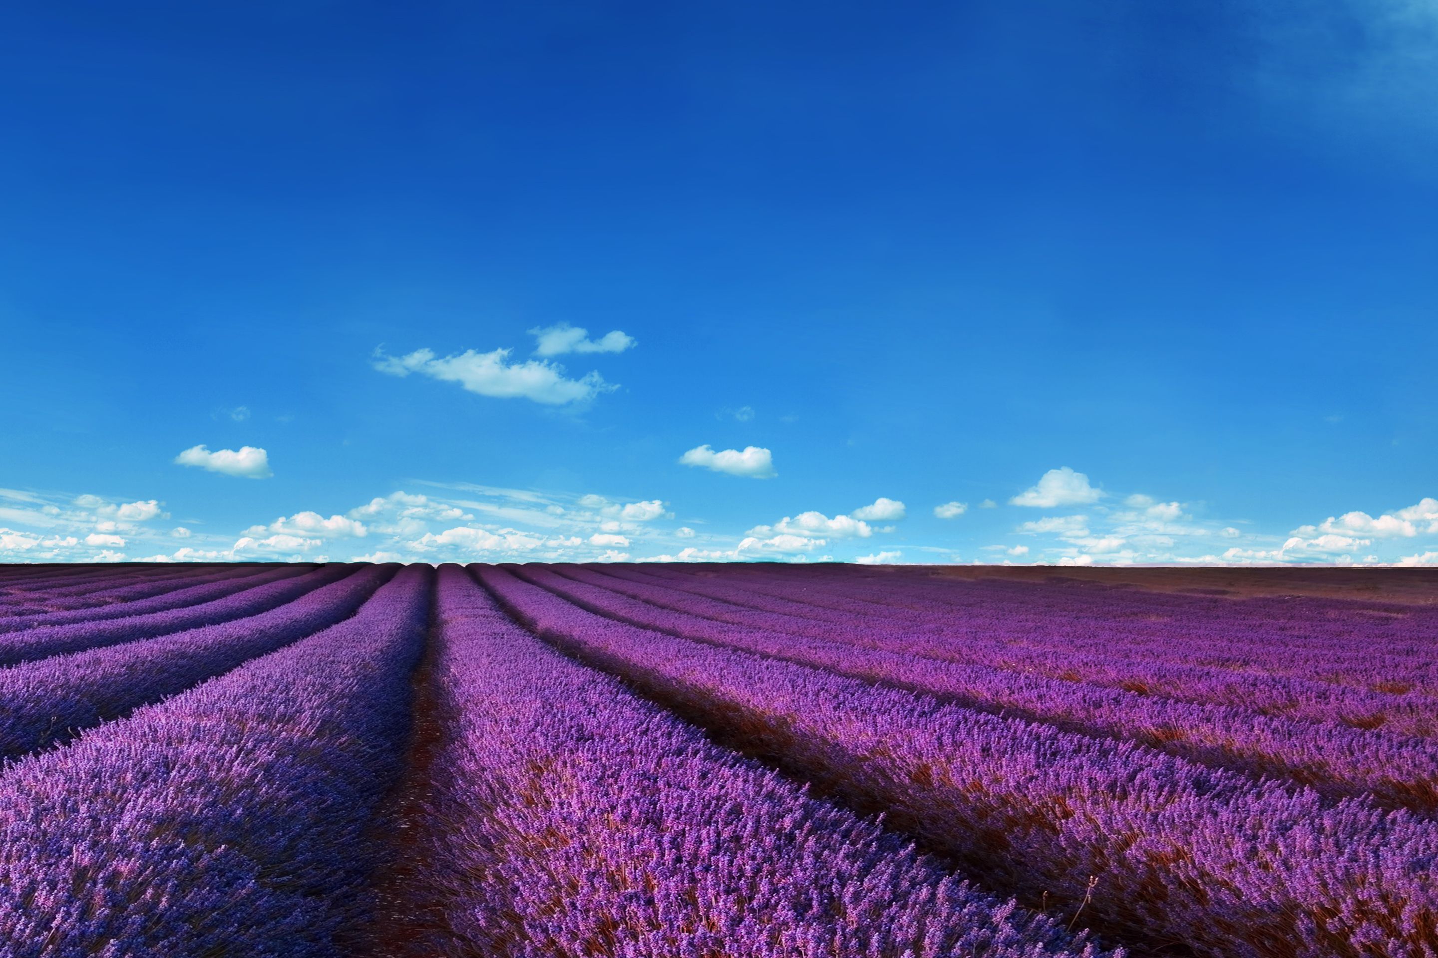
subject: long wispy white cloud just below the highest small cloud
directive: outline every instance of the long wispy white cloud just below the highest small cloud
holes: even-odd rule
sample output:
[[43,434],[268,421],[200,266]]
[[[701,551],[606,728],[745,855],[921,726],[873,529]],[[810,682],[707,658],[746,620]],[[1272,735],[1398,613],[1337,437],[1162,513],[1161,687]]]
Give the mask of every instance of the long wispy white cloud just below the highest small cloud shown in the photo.
[[467,349],[457,356],[436,359],[430,349],[416,349],[406,356],[387,356],[375,350],[374,368],[391,376],[417,372],[443,382],[457,382],[469,392],[498,399],[532,399],[544,405],[587,402],[601,392],[618,386],[604,382],[597,372],[580,379],[567,379],[564,366],[544,359],[506,362],[508,349],[480,353]]

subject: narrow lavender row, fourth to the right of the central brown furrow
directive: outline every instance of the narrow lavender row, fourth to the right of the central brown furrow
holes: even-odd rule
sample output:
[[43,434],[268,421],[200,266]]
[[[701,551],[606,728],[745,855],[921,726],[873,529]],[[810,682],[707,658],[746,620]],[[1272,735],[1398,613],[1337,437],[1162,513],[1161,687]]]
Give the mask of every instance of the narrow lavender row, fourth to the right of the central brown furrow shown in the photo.
[[[756,583],[752,587],[751,583],[736,586],[697,577],[686,580],[650,576],[630,569],[605,569],[604,575],[631,582],[663,583],[683,592],[743,605],[756,615],[772,609],[785,616],[787,629],[801,629],[805,633],[823,631],[818,622],[834,622],[841,623],[840,631],[834,633],[835,638],[848,638],[854,622],[873,623],[871,628],[864,628],[869,638],[896,633],[909,652],[929,658],[989,665],[1063,681],[1083,681],[1196,704],[1227,705],[1237,701],[1245,708],[1268,715],[1357,728],[1385,727],[1403,735],[1438,735],[1438,707],[1428,697],[1408,695],[1405,687],[1388,687],[1405,691],[1373,691],[1287,675],[1242,674],[1222,666],[1155,661],[1136,655],[1125,645],[1122,635],[1110,635],[1102,629],[1083,635],[1055,633],[1044,648],[1038,648],[1037,643],[1024,645],[1011,638],[1007,606],[995,606],[982,613],[971,610],[965,616],[949,613],[942,618],[909,618],[893,609],[854,602],[846,596],[830,596],[824,599],[828,605],[810,605],[810,612],[801,618],[792,612],[794,605],[801,605],[798,600],[771,596],[768,592],[761,592]],[[738,612],[731,610],[725,620],[733,620],[733,613]],[[1182,639],[1175,642],[1182,645]]]

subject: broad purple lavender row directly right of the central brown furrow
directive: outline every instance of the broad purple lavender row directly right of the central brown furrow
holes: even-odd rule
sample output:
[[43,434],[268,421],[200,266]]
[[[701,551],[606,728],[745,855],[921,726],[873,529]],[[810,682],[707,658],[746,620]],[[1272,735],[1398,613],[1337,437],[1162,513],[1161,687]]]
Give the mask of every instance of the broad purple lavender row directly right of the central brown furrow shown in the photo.
[[439,625],[407,954],[1097,954],[565,661],[457,566]]

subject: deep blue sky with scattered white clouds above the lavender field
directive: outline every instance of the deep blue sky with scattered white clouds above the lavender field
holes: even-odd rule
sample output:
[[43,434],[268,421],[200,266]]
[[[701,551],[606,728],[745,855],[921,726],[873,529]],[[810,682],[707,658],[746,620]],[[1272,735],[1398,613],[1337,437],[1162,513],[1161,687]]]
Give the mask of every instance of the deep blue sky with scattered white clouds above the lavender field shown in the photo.
[[27,6],[0,560],[1438,562],[1431,3]]

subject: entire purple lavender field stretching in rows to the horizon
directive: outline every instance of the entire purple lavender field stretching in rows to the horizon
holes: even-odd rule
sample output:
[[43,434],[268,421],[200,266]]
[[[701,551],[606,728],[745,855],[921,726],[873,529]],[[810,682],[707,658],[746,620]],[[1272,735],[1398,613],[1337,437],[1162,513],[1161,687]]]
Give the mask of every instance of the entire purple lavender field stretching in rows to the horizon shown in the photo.
[[1438,575],[1067,573],[0,566],[0,955],[1438,955]]

